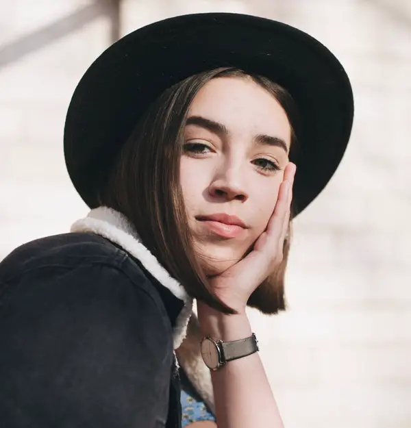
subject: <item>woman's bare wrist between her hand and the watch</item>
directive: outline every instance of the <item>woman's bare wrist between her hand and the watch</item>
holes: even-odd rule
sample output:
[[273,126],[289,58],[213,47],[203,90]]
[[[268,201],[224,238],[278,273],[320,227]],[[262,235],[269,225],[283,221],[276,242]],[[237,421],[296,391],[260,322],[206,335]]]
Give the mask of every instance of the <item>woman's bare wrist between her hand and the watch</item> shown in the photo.
[[239,314],[223,314],[205,303],[197,302],[197,314],[201,333],[211,336],[214,340],[230,342],[251,336],[251,325],[245,312]]

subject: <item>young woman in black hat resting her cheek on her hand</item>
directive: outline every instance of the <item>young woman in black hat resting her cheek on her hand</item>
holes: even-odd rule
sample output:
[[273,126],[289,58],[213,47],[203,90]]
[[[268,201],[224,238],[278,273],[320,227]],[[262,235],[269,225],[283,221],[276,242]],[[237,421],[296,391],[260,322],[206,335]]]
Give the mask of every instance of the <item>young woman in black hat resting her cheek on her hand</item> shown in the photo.
[[219,428],[282,427],[245,308],[284,310],[291,218],[352,118],[332,53],[263,18],[179,16],[105,51],[64,132],[91,211],[0,264],[1,423],[179,427],[176,351]]

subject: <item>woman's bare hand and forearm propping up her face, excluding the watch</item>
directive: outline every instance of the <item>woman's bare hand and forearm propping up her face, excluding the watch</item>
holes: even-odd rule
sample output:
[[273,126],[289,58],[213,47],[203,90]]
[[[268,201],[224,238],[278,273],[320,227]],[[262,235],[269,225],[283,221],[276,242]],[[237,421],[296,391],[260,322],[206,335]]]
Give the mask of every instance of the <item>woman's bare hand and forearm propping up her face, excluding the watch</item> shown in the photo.
[[[295,165],[290,163],[284,171],[273,214],[253,250],[225,272],[210,278],[214,292],[238,314],[223,314],[197,301],[204,336],[224,342],[251,336],[245,308],[251,293],[282,261],[294,175]],[[219,426],[284,427],[258,353],[227,363],[221,370],[212,371],[211,378]]]

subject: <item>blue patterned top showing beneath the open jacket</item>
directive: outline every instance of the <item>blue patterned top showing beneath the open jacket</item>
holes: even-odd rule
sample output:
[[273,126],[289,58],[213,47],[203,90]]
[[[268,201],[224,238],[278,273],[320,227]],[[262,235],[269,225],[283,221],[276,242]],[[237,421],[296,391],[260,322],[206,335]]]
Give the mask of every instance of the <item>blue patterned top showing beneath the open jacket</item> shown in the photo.
[[180,399],[182,403],[182,428],[200,420],[213,420],[215,422],[216,418],[192,388],[190,381],[181,368],[180,379],[182,383],[182,396]]

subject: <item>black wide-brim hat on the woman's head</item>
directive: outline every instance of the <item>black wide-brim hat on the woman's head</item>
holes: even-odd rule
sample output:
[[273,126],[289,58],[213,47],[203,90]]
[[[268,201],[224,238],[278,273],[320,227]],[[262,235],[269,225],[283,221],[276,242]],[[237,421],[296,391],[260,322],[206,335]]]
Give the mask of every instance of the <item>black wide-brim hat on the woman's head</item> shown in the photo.
[[105,50],[79,81],[64,129],[64,155],[91,208],[147,106],[166,88],[219,67],[283,86],[299,110],[295,215],[323,190],[347,147],[353,94],[343,66],[299,29],[257,16],[191,14],[137,29]]

